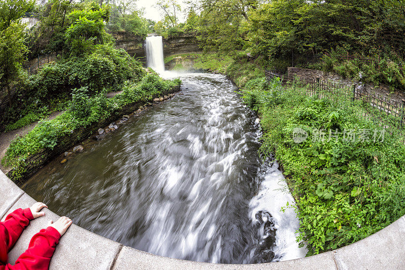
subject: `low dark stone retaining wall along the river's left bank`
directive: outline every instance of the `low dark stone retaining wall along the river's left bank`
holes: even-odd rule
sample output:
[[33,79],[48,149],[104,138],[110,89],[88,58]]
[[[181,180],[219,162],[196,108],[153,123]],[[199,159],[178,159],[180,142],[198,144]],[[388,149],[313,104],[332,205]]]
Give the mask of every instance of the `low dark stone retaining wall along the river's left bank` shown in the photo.
[[[165,96],[167,94],[172,94],[178,91],[180,91],[180,86],[175,86],[171,88],[170,91],[161,93],[160,96]],[[56,156],[74,147],[76,144],[79,144],[80,142],[83,142],[84,140],[90,138],[90,136],[100,127],[107,126],[109,123],[120,118],[120,116],[136,111],[136,109],[138,109],[138,107],[143,105],[144,103],[145,101],[140,101],[128,104],[125,107],[121,108],[119,111],[114,112],[107,119],[93,123],[85,128],[77,128],[73,130],[70,134],[66,134],[64,137],[59,139],[58,145],[55,146],[53,149],[43,149],[39,153],[29,156],[25,161],[25,169],[21,173],[21,178],[16,179],[15,177],[13,177],[13,172],[15,171],[15,169],[12,169],[7,173],[8,177],[10,177],[11,179],[14,178],[13,180],[15,180],[17,184],[22,184],[26,179],[32,176],[35,172],[37,172],[40,168],[42,168]]]

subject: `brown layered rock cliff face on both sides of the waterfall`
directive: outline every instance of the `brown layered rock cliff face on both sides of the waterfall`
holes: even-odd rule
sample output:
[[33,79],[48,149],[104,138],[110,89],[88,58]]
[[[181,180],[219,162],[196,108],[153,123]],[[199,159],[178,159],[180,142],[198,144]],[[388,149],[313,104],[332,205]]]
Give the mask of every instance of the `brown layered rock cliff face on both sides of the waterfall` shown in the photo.
[[[146,62],[145,37],[124,31],[110,34],[114,37],[117,48],[124,49],[130,55],[135,55],[142,62]],[[163,53],[165,57],[173,54],[194,52],[201,52],[195,36],[187,35],[163,39]]]

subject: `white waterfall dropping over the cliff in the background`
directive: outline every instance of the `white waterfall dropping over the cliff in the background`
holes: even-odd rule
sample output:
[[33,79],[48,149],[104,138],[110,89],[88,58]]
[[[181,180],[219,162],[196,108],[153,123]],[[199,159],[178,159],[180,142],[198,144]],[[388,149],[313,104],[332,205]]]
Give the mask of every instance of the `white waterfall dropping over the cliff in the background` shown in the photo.
[[165,71],[165,61],[163,60],[163,42],[161,36],[146,37],[146,61],[148,67],[156,72]]

